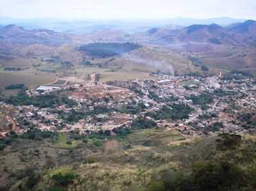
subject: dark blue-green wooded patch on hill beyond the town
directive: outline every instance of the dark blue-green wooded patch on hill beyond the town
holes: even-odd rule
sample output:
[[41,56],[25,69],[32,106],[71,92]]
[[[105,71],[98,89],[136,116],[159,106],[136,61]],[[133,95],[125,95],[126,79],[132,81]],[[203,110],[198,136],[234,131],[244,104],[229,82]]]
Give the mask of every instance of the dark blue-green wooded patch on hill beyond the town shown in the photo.
[[89,43],[82,45],[79,50],[88,52],[91,56],[110,57],[122,55],[125,52],[130,52],[138,49],[141,46],[134,43]]

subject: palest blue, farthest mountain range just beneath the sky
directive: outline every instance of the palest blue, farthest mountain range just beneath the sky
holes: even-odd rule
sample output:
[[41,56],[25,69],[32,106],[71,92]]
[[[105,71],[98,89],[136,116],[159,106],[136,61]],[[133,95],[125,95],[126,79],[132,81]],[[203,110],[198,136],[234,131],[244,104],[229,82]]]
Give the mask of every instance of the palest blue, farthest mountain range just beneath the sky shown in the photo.
[[169,24],[175,26],[190,26],[193,24],[218,24],[228,26],[244,19],[232,19],[228,17],[212,19],[190,19],[177,17],[161,20],[57,20],[57,19],[12,19],[0,17],[1,25],[16,24],[25,29],[51,29],[61,33],[95,33],[103,30],[120,30],[125,33],[143,32],[152,27],[166,27]]

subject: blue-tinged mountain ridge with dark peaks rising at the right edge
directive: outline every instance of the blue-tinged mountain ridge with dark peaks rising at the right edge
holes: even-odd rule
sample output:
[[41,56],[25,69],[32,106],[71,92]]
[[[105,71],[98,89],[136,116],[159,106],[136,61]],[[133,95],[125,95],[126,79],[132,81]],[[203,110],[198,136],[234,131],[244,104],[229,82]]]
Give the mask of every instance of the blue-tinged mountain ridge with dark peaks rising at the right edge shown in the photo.
[[[222,27],[218,24],[194,24],[182,29],[152,28],[148,30],[151,40],[165,43],[212,43],[215,45],[256,45],[256,21],[246,20]],[[157,34],[157,35],[156,35]]]

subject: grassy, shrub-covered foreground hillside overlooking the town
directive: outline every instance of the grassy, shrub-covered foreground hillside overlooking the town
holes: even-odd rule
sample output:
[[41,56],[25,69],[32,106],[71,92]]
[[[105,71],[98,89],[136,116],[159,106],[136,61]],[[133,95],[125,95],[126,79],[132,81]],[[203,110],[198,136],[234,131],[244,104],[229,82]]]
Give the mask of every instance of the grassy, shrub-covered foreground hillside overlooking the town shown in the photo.
[[254,136],[127,133],[11,134],[1,140],[1,190],[255,190]]

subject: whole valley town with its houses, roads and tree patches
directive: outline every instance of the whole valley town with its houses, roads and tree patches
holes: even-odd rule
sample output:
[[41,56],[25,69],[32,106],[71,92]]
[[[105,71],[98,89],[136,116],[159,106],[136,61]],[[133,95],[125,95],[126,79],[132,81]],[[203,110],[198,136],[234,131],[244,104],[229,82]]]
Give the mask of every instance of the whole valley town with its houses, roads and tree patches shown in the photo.
[[[183,135],[239,133],[255,126],[256,81],[229,77],[173,77],[100,83],[61,79],[0,102],[1,136],[29,128],[80,134],[129,128],[149,120]],[[226,78],[226,79],[225,79]],[[145,126],[147,128],[147,126]]]

